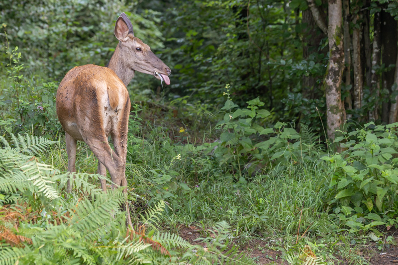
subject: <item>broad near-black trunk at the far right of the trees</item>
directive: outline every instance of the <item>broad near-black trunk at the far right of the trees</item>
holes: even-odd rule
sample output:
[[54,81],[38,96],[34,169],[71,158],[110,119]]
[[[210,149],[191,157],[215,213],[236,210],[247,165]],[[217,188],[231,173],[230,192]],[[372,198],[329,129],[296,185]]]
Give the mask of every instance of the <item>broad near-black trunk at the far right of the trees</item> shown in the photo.
[[[397,31],[398,31],[398,24],[397,20],[394,19],[391,14],[382,9],[381,11],[381,36],[382,36],[382,64],[385,67],[389,65],[395,64],[397,60]],[[395,68],[391,69],[390,71],[383,72],[382,79],[383,79],[383,90],[390,91],[391,94],[391,87],[394,84],[394,76],[395,76]],[[389,118],[389,108],[390,102],[384,101],[383,102],[383,112],[382,112],[382,120],[385,123],[388,122],[395,122],[393,118]]]

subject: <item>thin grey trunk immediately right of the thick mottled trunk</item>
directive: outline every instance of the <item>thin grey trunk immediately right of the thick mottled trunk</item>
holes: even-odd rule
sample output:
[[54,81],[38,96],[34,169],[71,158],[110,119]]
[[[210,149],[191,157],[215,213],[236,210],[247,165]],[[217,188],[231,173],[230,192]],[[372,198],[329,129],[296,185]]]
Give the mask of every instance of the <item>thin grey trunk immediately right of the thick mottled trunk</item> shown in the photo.
[[[344,60],[345,60],[345,85],[351,85],[351,35],[350,35],[350,0],[343,0],[344,9]],[[344,98],[346,109],[352,109],[351,92]],[[347,119],[351,119],[352,115],[347,114]]]

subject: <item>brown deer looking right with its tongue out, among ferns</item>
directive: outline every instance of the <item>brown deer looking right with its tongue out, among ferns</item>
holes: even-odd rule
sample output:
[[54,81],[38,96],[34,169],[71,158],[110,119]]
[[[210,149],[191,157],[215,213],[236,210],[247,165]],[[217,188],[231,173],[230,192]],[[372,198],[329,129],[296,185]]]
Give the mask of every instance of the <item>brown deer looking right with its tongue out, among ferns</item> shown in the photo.
[[[114,34],[119,40],[106,67],[84,65],[71,69],[58,87],[58,119],[65,130],[68,171],[76,172],[76,141],[85,141],[98,158],[98,174],[109,171],[112,189],[127,186],[125,176],[130,98],[126,86],[135,71],[154,75],[170,85],[171,70],[134,37],[133,26],[125,13],[116,20]],[[108,143],[112,137],[114,151]],[[101,188],[106,192],[105,180]],[[71,183],[67,183],[67,192]],[[127,189],[124,189],[127,193]],[[127,201],[126,224],[131,225]]]

